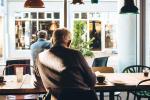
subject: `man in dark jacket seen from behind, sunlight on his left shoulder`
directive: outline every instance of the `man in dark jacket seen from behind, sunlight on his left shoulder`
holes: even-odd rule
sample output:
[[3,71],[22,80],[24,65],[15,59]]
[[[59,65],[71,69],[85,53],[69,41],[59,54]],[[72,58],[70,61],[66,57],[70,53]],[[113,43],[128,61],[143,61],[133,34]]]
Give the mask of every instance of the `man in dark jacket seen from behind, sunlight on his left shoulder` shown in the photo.
[[66,28],[56,29],[53,47],[38,55],[37,65],[44,87],[57,100],[63,89],[93,89],[96,76],[82,54],[70,49],[71,33]]

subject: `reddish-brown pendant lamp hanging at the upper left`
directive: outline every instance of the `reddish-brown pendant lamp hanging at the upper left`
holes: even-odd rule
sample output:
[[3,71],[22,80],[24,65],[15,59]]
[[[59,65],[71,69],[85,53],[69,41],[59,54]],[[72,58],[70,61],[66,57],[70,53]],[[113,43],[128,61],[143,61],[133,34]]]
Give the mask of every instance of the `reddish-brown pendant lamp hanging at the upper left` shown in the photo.
[[25,8],[44,8],[44,3],[42,0],[27,0],[24,3]]

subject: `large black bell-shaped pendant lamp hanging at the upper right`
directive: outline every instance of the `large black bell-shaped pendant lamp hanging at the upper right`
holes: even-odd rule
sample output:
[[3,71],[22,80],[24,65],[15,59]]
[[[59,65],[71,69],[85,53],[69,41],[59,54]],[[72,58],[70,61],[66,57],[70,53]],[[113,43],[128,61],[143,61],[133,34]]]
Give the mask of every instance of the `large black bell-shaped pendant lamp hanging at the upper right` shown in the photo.
[[134,13],[138,14],[138,8],[134,5],[133,0],[124,0],[124,6],[120,10],[120,14]]

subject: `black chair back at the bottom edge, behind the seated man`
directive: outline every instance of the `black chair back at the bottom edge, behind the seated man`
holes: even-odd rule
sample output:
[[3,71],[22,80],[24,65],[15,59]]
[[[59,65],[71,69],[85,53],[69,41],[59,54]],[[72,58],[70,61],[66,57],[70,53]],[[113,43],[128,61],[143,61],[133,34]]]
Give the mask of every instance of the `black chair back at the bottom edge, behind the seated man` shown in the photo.
[[94,90],[64,89],[58,100],[98,100]]

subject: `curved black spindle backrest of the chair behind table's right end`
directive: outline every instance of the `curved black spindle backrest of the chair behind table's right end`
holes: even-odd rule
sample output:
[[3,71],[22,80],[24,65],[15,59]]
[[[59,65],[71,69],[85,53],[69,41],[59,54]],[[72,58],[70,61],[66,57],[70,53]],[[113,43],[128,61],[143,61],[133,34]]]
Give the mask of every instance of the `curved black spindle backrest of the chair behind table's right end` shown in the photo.
[[143,72],[143,69],[148,68],[150,69],[150,67],[145,66],[145,65],[131,65],[126,67],[123,70],[123,73],[140,73]]

